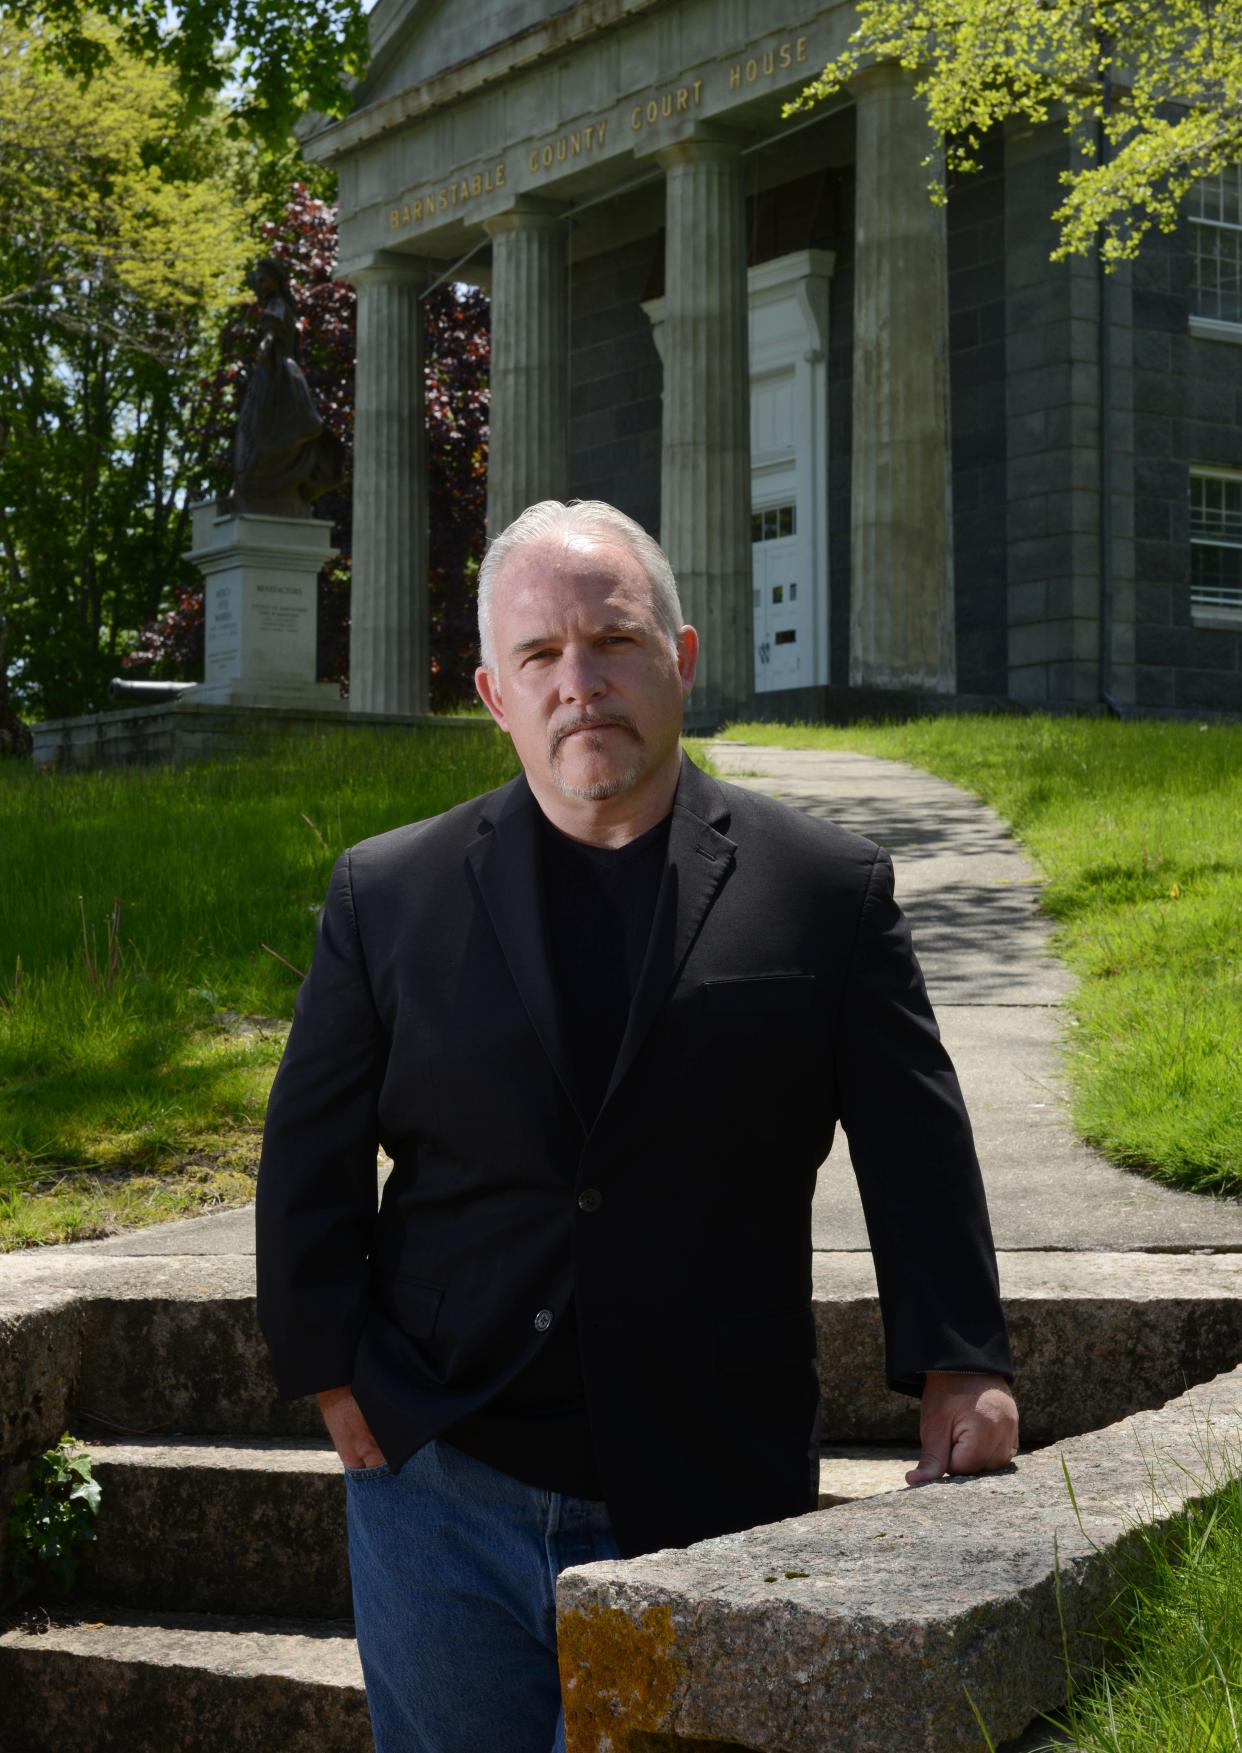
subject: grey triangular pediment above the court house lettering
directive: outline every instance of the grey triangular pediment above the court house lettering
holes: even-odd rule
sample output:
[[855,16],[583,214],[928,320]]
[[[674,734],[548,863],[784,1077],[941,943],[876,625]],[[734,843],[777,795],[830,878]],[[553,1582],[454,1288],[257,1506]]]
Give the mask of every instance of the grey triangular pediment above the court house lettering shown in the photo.
[[465,67],[574,9],[575,0],[379,0],[370,16],[372,60],[354,107]]

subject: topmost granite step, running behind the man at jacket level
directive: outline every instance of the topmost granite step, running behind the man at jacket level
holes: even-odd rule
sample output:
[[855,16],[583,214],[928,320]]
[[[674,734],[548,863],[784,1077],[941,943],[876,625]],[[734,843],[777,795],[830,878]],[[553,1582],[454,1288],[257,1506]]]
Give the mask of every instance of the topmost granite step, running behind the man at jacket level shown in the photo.
[[[81,1332],[79,1415],[147,1434],[319,1430],[314,1401],[275,1397],[253,1260],[89,1264],[63,1317]],[[824,1437],[917,1439],[917,1404],[884,1385],[870,1255],[819,1252],[812,1274]],[[1242,1253],[1002,1253],[1000,1281],[1033,1446],[1161,1406],[1242,1357]]]

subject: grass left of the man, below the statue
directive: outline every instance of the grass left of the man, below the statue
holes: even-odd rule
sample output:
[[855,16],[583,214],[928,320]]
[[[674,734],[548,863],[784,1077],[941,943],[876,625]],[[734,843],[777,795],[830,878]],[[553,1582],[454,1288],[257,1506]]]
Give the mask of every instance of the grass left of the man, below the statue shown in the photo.
[[193,768],[2,764],[0,1248],[249,1197],[333,857],[514,771],[482,724]]

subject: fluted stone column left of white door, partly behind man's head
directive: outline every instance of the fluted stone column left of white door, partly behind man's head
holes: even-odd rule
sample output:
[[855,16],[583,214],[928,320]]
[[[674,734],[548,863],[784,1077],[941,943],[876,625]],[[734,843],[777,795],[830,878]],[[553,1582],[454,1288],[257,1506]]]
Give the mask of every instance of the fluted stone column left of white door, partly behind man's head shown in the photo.
[[702,657],[689,719],[754,691],[746,195],[735,144],[658,154],[667,179],[661,538]]

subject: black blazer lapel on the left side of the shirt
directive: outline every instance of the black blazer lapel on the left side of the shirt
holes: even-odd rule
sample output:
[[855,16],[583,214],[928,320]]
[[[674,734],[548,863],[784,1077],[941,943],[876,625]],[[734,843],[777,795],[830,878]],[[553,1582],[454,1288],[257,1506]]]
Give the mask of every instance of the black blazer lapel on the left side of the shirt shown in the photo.
[[467,847],[467,859],[526,1015],[586,1131],[547,954],[539,884],[539,805],[525,777],[512,782],[495,819],[484,819],[481,829],[479,838]]

